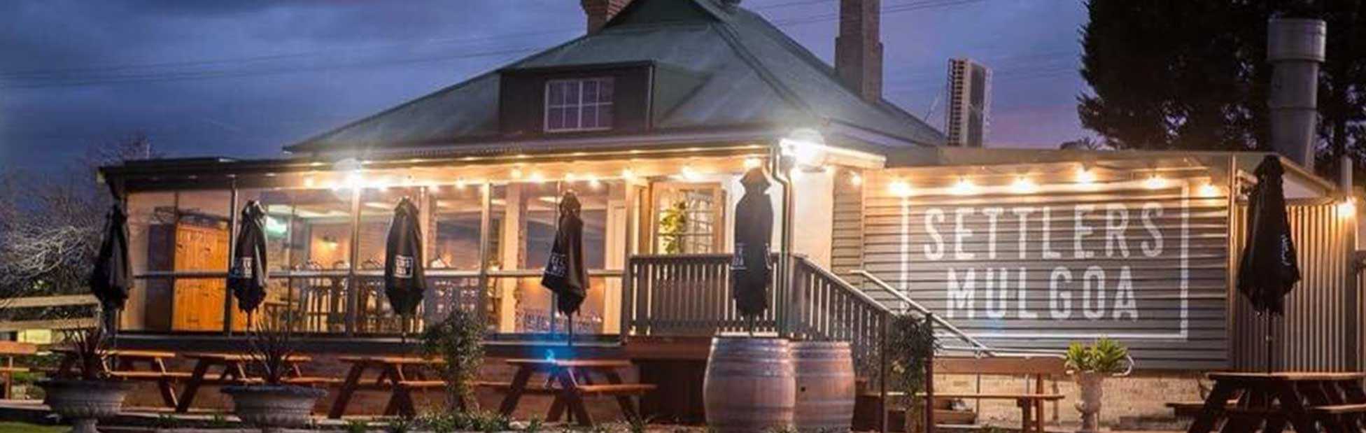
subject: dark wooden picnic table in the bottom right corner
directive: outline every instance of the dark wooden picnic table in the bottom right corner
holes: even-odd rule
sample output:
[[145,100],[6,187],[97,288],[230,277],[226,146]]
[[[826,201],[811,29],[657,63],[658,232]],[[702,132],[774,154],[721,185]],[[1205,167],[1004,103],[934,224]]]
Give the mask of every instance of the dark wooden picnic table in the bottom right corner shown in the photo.
[[[1366,373],[1209,373],[1214,381],[1187,433],[1362,432],[1366,425]],[[1236,403],[1229,404],[1236,399]],[[1264,426],[1265,425],[1265,426]]]

